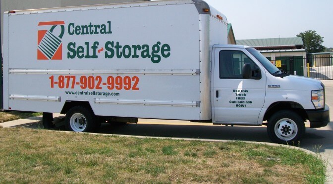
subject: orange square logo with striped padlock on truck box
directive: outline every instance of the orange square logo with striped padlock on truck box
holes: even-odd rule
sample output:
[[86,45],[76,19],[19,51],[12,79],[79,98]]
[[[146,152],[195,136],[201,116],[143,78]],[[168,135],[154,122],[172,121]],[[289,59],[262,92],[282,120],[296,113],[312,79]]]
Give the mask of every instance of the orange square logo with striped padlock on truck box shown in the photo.
[[[64,21],[40,22],[43,30],[38,30],[37,60],[61,60]],[[49,28],[44,30],[45,28]]]

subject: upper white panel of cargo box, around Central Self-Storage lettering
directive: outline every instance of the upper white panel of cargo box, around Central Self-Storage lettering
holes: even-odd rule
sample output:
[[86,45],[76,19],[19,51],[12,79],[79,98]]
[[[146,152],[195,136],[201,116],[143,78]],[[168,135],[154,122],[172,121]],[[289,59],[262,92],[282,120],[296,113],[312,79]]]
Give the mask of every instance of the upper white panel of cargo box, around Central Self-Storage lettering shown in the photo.
[[[181,18],[176,12],[181,12]],[[9,14],[9,40],[15,44],[15,49],[9,50],[9,68],[34,69],[198,69],[199,68],[199,21],[198,11],[193,4],[178,4],[153,7],[128,7],[114,9],[91,9],[65,12]],[[39,30],[49,30],[52,26],[41,25],[41,22],[64,21],[65,33],[62,37],[62,60],[37,60],[37,40]],[[111,34],[69,35],[75,26],[105,24],[111,21]],[[56,28],[55,31],[59,32]],[[56,33],[55,33],[56,35]],[[105,48],[105,42],[119,42],[119,45],[149,45],[157,42],[170,46],[170,56],[162,58],[159,63],[153,63],[151,58],[105,58],[106,50],[97,54],[96,59],[67,58],[67,46],[70,42],[83,46],[86,55],[85,42],[89,47],[99,42],[98,49]],[[172,45],[172,46],[171,46]],[[92,55],[92,49],[89,54]],[[110,53],[110,52],[109,52]],[[71,53],[70,53],[71,54]],[[23,62],[24,61],[24,62]],[[195,62],[194,62],[195,61]]]

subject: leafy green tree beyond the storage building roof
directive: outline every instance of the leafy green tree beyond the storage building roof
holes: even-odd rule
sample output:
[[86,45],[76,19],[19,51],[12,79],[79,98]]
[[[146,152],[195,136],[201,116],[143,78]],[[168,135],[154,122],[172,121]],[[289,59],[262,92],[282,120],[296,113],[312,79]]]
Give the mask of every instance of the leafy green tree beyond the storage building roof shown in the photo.
[[302,38],[305,50],[308,53],[323,52],[326,48],[323,46],[324,37],[318,35],[316,31],[308,30],[304,33],[301,32],[296,37]]

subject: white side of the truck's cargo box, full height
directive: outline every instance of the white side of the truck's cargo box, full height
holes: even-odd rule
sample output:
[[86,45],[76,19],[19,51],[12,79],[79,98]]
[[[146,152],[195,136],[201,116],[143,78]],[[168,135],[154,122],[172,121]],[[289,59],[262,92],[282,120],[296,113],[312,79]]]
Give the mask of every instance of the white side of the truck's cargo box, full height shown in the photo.
[[[9,14],[9,59],[5,61],[9,67],[4,70],[6,75],[9,73],[5,77],[9,89],[5,93],[9,98],[7,107],[60,112],[66,100],[76,100],[89,101],[96,115],[200,119],[199,20],[194,4],[64,10]],[[110,28],[112,33],[101,34],[100,29],[98,34],[81,34],[81,26],[90,24],[105,25],[106,31],[110,32]],[[80,34],[75,33],[76,29]],[[51,59],[39,58],[38,45],[51,42],[43,40],[43,34],[39,38],[41,31],[44,37],[52,32],[61,40],[61,59],[53,59],[56,53],[50,54]],[[125,52],[119,54],[120,58],[117,42],[126,47],[119,49],[118,53]],[[137,48],[135,54],[133,46],[138,45],[142,49]],[[152,58],[154,46],[160,50],[158,62],[158,56]],[[56,52],[61,49],[55,47]],[[149,47],[149,51],[142,53],[143,47]],[[106,54],[112,54],[111,48],[114,55],[106,58]],[[69,58],[74,52],[78,53]],[[85,58],[94,52],[98,58]],[[47,52],[42,54],[48,56]]]

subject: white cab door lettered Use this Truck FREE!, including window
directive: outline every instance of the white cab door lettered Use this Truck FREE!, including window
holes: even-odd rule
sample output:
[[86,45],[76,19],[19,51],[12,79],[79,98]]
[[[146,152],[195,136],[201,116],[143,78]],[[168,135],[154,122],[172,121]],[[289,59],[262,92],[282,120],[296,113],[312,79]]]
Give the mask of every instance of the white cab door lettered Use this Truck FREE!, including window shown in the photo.
[[[257,124],[265,102],[266,76],[246,49],[215,48],[212,97],[213,121]],[[242,67],[249,63],[252,78],[243,79]]]

